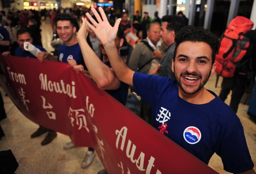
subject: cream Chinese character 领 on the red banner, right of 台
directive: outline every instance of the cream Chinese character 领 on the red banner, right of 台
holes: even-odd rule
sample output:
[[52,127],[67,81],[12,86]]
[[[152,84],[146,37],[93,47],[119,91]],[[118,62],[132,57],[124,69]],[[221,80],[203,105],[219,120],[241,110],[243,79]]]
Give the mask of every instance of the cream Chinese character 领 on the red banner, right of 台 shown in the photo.
[[82,127],[84,127],[84,129],[87,132],[89,131],[89,128],[87,127],[87,121],[86,121],[86,117],[84,115],[84,109],[72,109],[70,107],[69,112],[68,112],[68,116],[70,117],[70,122],[72,124],[72,126],[74,127],[74,121],[76,121],[76,125],[79,126],[78,130],[80,130]]

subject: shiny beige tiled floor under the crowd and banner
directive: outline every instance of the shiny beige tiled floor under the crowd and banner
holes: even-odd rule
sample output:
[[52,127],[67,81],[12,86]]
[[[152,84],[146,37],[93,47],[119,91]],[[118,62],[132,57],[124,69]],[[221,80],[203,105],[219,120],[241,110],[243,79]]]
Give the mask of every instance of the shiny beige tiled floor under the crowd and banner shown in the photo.
[[[42,42],[47,51],[52,51],[50,41],[52,32],[49,23],[42,23]],[[216,76],[213,76],[206,84],[206,88],[220,92],[221,79],[218,87],[215,88]],[[31,139],[30,135],[38,125],[24,117],[15,107],[9,97],[4,96],[5,92],[0,89],[5,102],[7,118],[1,121],[1,126],[6,134],[0,140],[0,151],[12,149],[18,163],[17,174],[96,174],[103,168],[98,157],[87,169],[81,169],[80,164],[84,158],[87,148],[74,148],[64,150],[63,145],[70,139],[66,135],[58,133],[57,138],[47,146],[40,143],[45,135]],[[230,95],[227,103],[230,101]],[[247,144],[254,164],[256,164],[256,122],[253,122],[247,115],[248,106],[239,105],[238,116],[244,126]],[[221,159],[214,155],[210,160],[209,166],[221,174],[228,172],[223,170]],[[256,166],[254,167],[256,171]]]

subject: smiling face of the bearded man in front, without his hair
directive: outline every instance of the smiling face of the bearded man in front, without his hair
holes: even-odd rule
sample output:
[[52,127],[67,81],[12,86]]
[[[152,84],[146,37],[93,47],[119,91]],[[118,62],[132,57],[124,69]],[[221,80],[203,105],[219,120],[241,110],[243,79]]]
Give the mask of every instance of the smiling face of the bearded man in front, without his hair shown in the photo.
[[212,65],[212,49],[205,42],[182,42],[177,48],[172,71],[179,84],[179,93],[199,93],[215,72]]

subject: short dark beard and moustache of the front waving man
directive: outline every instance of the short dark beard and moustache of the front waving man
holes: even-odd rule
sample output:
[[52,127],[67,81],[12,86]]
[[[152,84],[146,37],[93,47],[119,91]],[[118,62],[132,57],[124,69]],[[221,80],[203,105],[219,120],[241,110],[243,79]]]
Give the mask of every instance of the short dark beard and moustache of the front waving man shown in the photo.
[[[174,68],[175,79],[176,79],[177,83],[179,84],[180,89],[181,89],[181,90],[183,91],[183,93],[185,93],[185,94],[195,94],[195,93],[197,93],[198,91],[200,91],[200,90],[202,89],[202,87],[204,87],[204,85],[207,83],[207,81],[209,80],[210,75],[211,75],[211,71],[210,71],[209,74],[207,75],[207,78],[204,79],[204,81],[199,84],[197,90],[195,90],[195,91],[192,92],[192,93],[187,93],[186,90],[182,87],[181,80],[177,78],[177,75],[176,75],[176,73],[175,73],[175,67],[173,67],[173,68]],[[180,74],[180,77],[183,76],[183,75],[197,76],[197,77],[199,77],[199,78],[202,79],[202,76],[201,76],[200,74],[197,74],[197,73],[189,73],[189,72],[186,71],[185,73],[181,73],[181,74]]]

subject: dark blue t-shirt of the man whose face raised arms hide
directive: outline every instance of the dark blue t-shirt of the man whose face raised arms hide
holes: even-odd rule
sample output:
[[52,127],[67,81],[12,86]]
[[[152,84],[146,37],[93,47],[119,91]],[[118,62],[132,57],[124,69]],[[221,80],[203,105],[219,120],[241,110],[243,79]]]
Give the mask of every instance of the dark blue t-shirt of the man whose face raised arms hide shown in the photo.
[[[103,62],[108,67],[111,67],[110,62]],[[129,85],[125,84],[121,81],[120,86],[117,90],[105,90],[109,95],[111,95],[113,98],[116,98],[117,101],[122,103],[123,105],[126,104],[127,101],[127,95],[128,95],[128,88]]]

